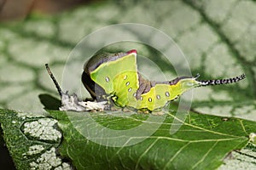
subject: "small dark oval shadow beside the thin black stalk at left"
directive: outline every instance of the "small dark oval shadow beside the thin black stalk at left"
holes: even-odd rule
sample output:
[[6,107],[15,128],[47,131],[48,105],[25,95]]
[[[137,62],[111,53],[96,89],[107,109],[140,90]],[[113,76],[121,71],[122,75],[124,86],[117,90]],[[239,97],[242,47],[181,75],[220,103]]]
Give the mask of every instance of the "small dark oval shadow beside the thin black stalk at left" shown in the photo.
[[38,95],[41,103],[44,105],[44,109],[47,110],[59,110],[61,107],[61,100],[49,94],[39,94]]

